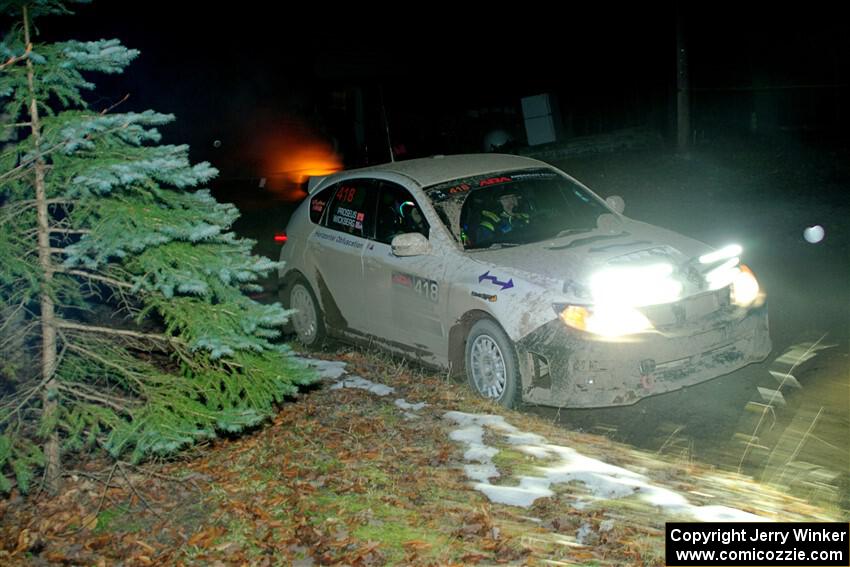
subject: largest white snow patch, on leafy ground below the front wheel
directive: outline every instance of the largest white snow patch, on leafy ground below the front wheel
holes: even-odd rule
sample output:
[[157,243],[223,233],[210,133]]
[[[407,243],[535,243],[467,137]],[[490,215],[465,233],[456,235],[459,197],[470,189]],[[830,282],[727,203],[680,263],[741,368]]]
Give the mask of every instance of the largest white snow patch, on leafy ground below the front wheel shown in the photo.
[[[699,521],[765,520],[736,508],[695,506],[682,494],[652,484],[642,474],[587,457],[570,447],[550,444],[540,435],[520,431],[507,423],[502,416],[452,411],[444,414],[444,417],[459,426],[449,437],[466,445],[464,458],[479,463],[466,465],[466,476],[475,481],[474,488],[483,492],[492,502],[528,508],[538,498],[553,496],[551,485],[577,481],[584,484],[592,498],[618,499],[635,496],[665,512],[690,515]],[[541,476],[520,477],[517,486],[491,484],[489,479],[498,477],[498,469],[492,462],[492,458],[498,454],[498,449],[484,443],[484,427],[501,433],[508,443],[519,445],[519,451],[539,459],[552,459],[554,462],[538,467]],[[496,474],[489,474],[493,470]],[[482,478],[485,473],[487,476]],[[574,506],[583,508],[587,506],[587,502],[577,499]]]

